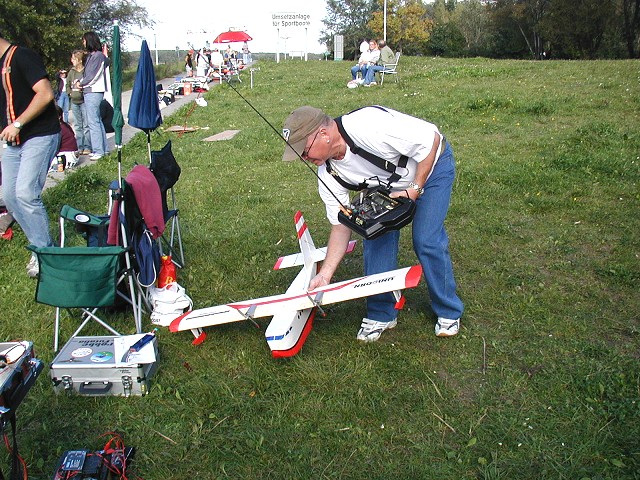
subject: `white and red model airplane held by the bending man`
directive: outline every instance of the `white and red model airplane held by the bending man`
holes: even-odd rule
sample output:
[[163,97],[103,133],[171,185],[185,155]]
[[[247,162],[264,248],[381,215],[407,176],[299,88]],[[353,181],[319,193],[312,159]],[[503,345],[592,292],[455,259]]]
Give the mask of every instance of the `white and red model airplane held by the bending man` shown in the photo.
[[[396,308],[400,309],[404,305],[401,290],[413,288],[420,282],[422,267],[414,265],[332,283],[308,291],[311,279],[320,270],[318,264],[324,260],[327,254],[327,247],[315,247],[302,213],[297,212],[294,219],[300,243],[300,253],[280,257],[274,266],[274,270],[302,266],[302,270],[286,293],[191,310],[171,322],[169,330],[172,332],[191,330],[194,335],[198,332],[200,334],[193,342],[197,344],[204,341],[206,337],[206,334],[200,330],[203,327],[242,320],[253,322],[255,318],[272,316],[273,319],[265,331],[271,353],[274,357],[291,357],[302,348],[311,331],[315,313],[317,310],[322,311],[323,305],[393,292],[396,298]],[[355,241],[349,242],[347,252],[352,251],[354,246]]]

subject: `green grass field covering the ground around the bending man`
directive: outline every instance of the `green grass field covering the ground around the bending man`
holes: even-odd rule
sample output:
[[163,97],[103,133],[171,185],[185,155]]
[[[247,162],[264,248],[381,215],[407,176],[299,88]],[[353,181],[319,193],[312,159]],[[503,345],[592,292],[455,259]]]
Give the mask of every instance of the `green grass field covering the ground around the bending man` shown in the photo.
[[[269,355],[267,321],[211,328],[199,347],[163,329],[146,397],[56,396],[45,370],[18,410],[29,478],[112,430],[147,480],[640,478],[638,62],[403,57],[397,83],[354,90],[346,62],[258,66],[254,88],[248,73],[237,88],[278,129],[301,105],[340,115],[377,103],[446,134],[460,334],[434,336],[424,284],[379,342],[356,342],[364,304],[347,302],[286,361]],[[296,210],[317,245],[329,231],[313,176],[280,160],[271,128],[228,86],[205,98],[165,119],[200,130],[152,136],[156,149],[171,139],[182,166],[178,276],[196,307],[284,291],[295,272],[271,267],[297,251]],[[240,133],[201,141],[228,129]],[[125,172],[145,155],[139,135]],[[64,203],[102,212],[116,171],[110,155],[48,190],[52,222]],[[416,261],[409,237],[403,266]],[[32,340],[48,363],[53,309],[34,302],[25,246],[19,229],[0,243],[0,337]],[[361,249],[336,280],[361,273]]]

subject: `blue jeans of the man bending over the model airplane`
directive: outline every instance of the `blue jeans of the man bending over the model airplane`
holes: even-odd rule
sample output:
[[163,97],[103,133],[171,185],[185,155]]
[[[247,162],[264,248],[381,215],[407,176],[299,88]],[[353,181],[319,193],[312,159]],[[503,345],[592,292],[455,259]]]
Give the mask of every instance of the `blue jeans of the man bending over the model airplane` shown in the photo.
[[[438,317],[457,319],[464,305],[456,293],[456,281],[449,256],[449,237],[444,220],[449,209],[455,176],[453,150],[447,143],[438,163],[416,201],[413,218],[413,249],[422,265],[431,308]],[[399,231],[391,231],[374,240],[364,241],[365,275],[398,268]],[[367,318],[388,322],[397,317],[391,293],[367,298]]]

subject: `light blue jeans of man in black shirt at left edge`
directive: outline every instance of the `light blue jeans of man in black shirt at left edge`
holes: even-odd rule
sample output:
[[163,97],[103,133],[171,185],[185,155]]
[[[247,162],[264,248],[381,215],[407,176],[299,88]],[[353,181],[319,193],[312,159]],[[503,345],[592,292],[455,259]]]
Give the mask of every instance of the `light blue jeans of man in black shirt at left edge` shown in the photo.
[[2,155],[2,189],[7,210],[36,247],[53,245],[42,188],[49,165],[60,147],[60,134],[33,137],[21,145],[7,145]]

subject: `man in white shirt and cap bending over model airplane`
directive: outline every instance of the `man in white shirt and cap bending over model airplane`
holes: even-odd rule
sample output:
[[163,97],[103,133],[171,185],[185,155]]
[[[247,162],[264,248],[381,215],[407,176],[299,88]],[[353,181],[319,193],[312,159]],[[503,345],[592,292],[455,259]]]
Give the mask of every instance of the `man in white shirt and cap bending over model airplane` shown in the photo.
[[[413,249],[424,271],[432,310],[438,317],[435,333],[439,337],[457,334],[464,305],[456,293],[444,228],[455,166],[453,150],[438,128],[386,107],[364,107],[333,119],[306,106],[289,115],[283,136],[288,139],[283,160],[299,155],[318,166],[320,197],[331,223],[327,256],[309,290],[329,284],[351,238],[351,230],[338,221],[340,204],[349,204],[350,192],[361,189],[363,184],[389,183],[391,196],[405,196],[416,202]],[[387,182],[389,170],[354,153],[347,140],[395,165],[394,180]],[[397,268],[399,238],[400,232],[394,230],[364,240],[365,275]],[[395,298],[390,293],[367,298],[367,316],[356,338],[374,342],[384,330],[395,327],[394,307]]]

